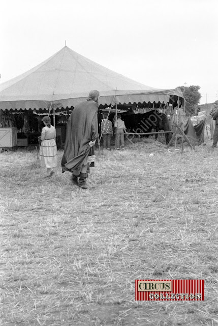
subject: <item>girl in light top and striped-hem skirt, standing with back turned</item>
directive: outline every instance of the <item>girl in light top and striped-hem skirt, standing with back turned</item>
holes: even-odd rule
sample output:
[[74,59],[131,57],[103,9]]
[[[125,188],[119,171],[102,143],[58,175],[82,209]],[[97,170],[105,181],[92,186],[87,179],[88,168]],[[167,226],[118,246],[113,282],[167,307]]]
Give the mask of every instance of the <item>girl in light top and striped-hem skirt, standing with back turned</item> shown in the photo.
[[42,128],[41,134],[40,165],[47,168],[47,177],[51,177],[54,174],[52,168],[57,166],[56,130],[51,126],[51,119],[48,116],[42,121],[45,127]]

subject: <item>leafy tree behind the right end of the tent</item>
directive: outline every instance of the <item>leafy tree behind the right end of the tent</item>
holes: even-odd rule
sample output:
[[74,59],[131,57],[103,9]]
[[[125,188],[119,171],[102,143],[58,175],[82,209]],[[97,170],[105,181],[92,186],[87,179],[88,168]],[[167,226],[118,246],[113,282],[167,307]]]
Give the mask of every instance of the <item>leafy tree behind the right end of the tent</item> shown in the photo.
[[200,86],[180,86],[179,88],[185,99],[185,110],[190,114],[195,114],[195,107],[200,103],[201,98]]

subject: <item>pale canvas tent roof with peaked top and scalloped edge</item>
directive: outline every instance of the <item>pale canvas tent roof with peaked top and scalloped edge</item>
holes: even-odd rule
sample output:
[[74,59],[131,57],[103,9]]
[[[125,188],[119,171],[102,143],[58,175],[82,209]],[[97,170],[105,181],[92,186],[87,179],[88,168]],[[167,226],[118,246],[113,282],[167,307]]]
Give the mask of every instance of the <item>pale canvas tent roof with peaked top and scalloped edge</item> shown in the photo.
[[[71,107],[100,92],[99,104],[161,102],[183,98],[180,89],[160,90],[135,82],[65,46],[29,71],[0,84],[0,109]],[[115,97],[114,97],[115,96]]]

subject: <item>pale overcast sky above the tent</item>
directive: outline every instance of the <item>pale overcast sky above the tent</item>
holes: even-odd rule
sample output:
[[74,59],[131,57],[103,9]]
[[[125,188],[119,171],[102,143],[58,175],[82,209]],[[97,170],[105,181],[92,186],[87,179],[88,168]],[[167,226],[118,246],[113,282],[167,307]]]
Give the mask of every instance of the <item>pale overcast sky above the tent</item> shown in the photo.
[[218,99],[217,0],[1,0],[0,83],[65,46],[154,88]]

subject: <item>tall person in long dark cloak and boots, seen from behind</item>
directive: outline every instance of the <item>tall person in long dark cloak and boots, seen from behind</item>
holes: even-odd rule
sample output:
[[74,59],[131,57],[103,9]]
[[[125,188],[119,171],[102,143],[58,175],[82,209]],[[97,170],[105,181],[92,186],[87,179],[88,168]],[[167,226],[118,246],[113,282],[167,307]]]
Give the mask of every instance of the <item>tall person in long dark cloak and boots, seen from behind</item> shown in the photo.
[[[73,174],[72,181],[83,189],[88,188],[88,156],[95,155],[99,97],[98,91],[91,91],[86,101],[74,107],[67,123],[65,151],[61,160],[62,172],[70,171]],[[90,166],[94,167],[95,162],[91,162]]]

